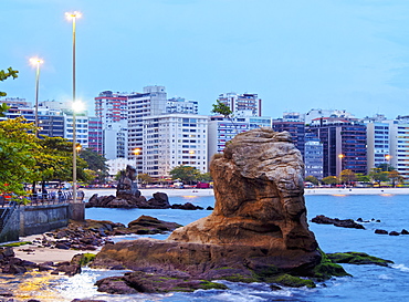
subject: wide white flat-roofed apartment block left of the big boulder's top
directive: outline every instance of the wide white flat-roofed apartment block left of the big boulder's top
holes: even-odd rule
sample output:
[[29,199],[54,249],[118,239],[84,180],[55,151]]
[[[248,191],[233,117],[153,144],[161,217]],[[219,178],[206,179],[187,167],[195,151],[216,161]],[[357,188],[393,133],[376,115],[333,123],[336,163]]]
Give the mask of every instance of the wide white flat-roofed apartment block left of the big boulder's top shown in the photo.
[[174,167],[208,170],[208,116],[166,114],[143,117],[143,170],[151,177],[169,177]]

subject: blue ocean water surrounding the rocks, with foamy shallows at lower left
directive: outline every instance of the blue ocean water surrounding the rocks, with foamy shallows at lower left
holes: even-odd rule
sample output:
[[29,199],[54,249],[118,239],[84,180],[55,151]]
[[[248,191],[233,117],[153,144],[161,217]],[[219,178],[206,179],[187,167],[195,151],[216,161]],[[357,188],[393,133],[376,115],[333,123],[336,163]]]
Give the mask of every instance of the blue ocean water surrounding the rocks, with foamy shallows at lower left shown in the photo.
[[[171,204],[192,202],[203,208],[213,206],[212,196],[207,197],[170,197]],[[112,295],[98,293],[93,285],[96,280],[108,275],[119,275],[119,271],[101,271],[84,269],[81,274],[72,278],[54,277],[38,282],[41,287],[29,287],[22,293],[21,287],[14,301],[21,298],[38,298],[41,301],[71,301],[80,299],[102,299],[114,301],[409,301],[409,236],[376,235],[375,229],[388,231],[409,230],[409,196],[306,196],[308,221],[316,215],[325,215],[339,219],[375,220],[380,222],[364,222],[365,230],[337,228],[328,225],[310,223],[319,247],[325,252],[360,251],[371,256],[389,259],[395,264],[385,268],[377,265],[343,264],[353,277],[334,278],[321,283],[315,289],[290,289],[271,291],[264,283],[232,283],[227,284],[230,290],[196,291],[193,293],[167,294],[134,294]],[[86,209],[86,218],[112,220],[128,223],[140,215],[148,215],[161,220],[187,225],[210,214],[207,210],[144,210],[144,209]],[[156,235],[153,238],[165,239],[168,235]],[[135,239],[128,236],[116,240]],[[7,277],[4,277],[7,278]],[[27,278],[27,277],[25,277]],[[43,277],[38,277],[43,278]],[[35,283],[35,277],[24,280],[14,280],[17,284]],[[6,281],[4,281],[6,282]],[[1,280],[0,280],[1,287]],[[46,294],[45,294],[46,293]],[[25,294],[25,295],[24,295]],[[0,300],[1,301],[1,300]],[[4,300],[6,301],[6,300]],[[21,300],[25,301],[25,300]]]

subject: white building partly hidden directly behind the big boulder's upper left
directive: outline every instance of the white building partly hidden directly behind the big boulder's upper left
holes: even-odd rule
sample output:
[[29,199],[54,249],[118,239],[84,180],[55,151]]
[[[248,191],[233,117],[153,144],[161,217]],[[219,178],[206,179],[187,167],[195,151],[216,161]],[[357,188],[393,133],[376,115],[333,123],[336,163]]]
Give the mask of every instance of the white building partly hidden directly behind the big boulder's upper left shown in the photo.
[[271,127],[272,118],[265,116],[245,116],[227,118],[221,115],[211,116],[209,121],[209,158],[222,153],[226,143],[235,135],[260,127]]

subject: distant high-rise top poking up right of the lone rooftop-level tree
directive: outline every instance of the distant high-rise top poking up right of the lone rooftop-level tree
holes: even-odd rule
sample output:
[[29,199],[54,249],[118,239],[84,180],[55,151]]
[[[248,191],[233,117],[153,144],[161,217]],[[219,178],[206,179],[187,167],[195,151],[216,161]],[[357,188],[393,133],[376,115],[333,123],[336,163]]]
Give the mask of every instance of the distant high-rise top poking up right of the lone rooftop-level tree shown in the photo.
[[261,98],[255,93],[223,93],[218,101],[228,105],[234,116],[261,116]]

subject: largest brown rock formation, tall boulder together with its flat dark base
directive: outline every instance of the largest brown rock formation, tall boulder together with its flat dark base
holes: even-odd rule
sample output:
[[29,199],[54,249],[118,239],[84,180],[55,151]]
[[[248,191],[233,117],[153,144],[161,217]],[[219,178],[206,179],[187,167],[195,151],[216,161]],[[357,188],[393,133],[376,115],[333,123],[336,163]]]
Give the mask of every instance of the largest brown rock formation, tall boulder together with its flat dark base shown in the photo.
[[216,197],[210,216],[167,240],[107,244],[94,265],[207,280],[313,275],[322,254],[308,230],[303,162],[290,134],[271,128],[239,134],[212,158],[210,171]]

